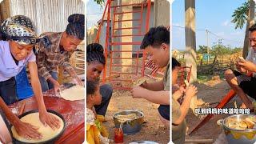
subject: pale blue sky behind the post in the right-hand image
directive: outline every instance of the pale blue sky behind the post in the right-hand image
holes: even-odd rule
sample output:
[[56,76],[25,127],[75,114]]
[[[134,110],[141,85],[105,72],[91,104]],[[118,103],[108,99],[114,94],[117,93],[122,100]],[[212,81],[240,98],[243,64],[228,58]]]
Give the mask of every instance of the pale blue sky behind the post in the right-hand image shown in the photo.
[[[172,44],[173,49],[185,50],[185,0],[174,0],[172,3]],[[206,46],[206,29],[209,34],[209,46],[223,38],[222,43],[231,47],[242,47],[246,25],[242,30],[234,29],[232,14],[246,0],[196,0],[196,45]],[[217,36],[218,37],[217,37]]]

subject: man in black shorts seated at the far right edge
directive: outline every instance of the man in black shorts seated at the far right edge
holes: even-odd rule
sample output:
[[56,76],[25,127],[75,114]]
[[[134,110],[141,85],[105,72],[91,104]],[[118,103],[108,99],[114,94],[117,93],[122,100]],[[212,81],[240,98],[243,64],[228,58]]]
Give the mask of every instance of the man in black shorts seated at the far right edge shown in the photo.
[[[226,70],[225,78],[226,82],[241,98],[243,102],[241,107],[253,110],[254,106],[246,94],[250,98],[256,98],[256,90],[254,90],[256,85],[256,24],[250,26],[249,31],[251,48],[246,59],[239,58],[236,62],[237,70]],[[253,77],[250,77],[249,73],[253,73]]]

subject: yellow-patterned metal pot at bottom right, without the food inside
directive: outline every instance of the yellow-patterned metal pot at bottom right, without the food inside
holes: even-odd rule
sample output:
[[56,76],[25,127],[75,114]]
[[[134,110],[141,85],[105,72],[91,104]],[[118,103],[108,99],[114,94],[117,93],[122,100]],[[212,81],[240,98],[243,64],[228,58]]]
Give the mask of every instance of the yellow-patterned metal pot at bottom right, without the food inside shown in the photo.
[[246,129],[246,130],[238,130],[238,129],[234,129],[234,128],[230,128],[228,126],[228,122],[230,121],[230,119],[235,119],[237,121],[241,121],[245,118],[248,117],[255,117],[256,115],[253,114],[235,114],[235,115],[231,115],[227,118],[225,118],[224,120],[221,120],[219,122],[219,124],[222,125],[223,130],[226,134],[226,139],[229,143],[232,144],[240,144],[240,143],[255,143],[256,142],[256,128],[252,128],[252,129]]

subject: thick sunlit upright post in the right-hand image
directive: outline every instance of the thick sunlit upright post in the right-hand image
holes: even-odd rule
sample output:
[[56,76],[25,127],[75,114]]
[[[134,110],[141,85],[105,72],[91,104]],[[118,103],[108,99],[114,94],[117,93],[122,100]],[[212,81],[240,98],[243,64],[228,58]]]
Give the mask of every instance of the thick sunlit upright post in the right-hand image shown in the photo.
[[[197,81],[197,62],[196,62],[196,41],[195,41],[195,1],[185,0],[185,38],[186,38],[186,66],[192,66],[190,83]],[[190,108],[194,112],[197,97],[193,97]]]

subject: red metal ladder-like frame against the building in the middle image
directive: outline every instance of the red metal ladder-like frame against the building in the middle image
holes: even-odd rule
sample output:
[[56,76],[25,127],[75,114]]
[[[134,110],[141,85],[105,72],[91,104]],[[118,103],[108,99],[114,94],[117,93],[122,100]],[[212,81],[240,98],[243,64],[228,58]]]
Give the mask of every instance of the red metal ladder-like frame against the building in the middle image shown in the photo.
[[[134,6],[140,7],[140,9],[134,10]],[[106,66],[103,70],[102,82],[108,81],[112,85],[119,82],[119,85],[113,86],[114,90],[130,90],[132,79],[138,78],[138,76],[146,75],[154,78],[156,74],[163,75],[161,69],[146,59],[145,51],[138,49],[141,42],[134,42],[135,37],[143,38],[149,30],[150,9],[150,0],[126,1],[122,4],[111,0],[106,2],[95,42],[99,41],[103,19],[106,16],[106,42],[104,46]],[[143,13],[146,15],[145,20],[143,20]],[[139,14],[139,18],[135,18],[133,14]],[[137,46],[137,50],[135,46]],[[145,70],[150,70],[150,74],[145,74]]]

